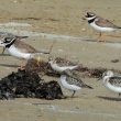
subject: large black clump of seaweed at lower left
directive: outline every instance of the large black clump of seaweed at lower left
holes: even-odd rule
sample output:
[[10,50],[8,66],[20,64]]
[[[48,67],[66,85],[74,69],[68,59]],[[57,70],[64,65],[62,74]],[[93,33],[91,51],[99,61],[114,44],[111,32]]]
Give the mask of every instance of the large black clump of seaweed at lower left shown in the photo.
[[37,73],[18,70],[0,80],[0,99],[14,98],[64,98],[57,81],[45,82]]

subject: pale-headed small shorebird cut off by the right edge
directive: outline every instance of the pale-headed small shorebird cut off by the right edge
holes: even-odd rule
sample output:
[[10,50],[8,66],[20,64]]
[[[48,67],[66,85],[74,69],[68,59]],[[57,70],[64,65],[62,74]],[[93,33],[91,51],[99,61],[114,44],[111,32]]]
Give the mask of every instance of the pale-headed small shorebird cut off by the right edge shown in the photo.
[[113,92],[121,95],[121,76],[114,75],[113,72],[108,70],[102,74],[102,82],[106,88]]

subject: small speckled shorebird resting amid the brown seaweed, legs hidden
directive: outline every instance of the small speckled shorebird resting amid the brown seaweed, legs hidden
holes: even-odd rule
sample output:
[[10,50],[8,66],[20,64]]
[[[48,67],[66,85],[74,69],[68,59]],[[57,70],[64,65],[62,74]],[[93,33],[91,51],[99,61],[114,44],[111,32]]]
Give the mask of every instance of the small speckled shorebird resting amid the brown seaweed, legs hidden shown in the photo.
[[48,64],[51,65],[52,69],[57,72],[57,73],[63,73],[66,69],[76,69],[79,67],[79,65],[70,63],[68,61],[64,61],[62,58],[55,58],[55,59],[50,59]]

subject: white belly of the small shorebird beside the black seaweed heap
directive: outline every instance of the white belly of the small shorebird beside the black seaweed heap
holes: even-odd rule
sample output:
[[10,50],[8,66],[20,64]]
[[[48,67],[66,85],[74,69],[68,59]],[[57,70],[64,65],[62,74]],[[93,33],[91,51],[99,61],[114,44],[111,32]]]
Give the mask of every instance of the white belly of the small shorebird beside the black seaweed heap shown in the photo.
[[79,90],[79,89],[81,89],[80,87],[78,87],[76,85],[69,85],[66,81],[66,78],[61,78],[61,84],[63,85],[64,88],[69,89],[69,90]]

